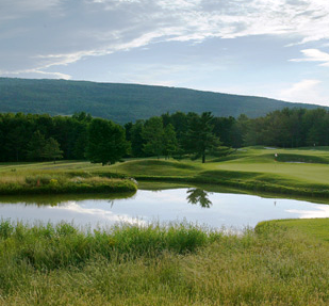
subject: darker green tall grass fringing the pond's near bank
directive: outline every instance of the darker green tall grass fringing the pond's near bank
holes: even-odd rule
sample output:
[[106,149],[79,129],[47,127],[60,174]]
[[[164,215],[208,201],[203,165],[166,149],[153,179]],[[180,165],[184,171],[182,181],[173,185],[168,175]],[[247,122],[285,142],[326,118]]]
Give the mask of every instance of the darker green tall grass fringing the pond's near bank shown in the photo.
[[207,235],[201,228],[188,225],[169,228],[121,225],[108,231],[82,231],[68,223],[30,227],[3,220],[0,223],[0,254],[7,261],[28,263],[43,271],[80,267],[95,256],[116,260],[156,257],[165,250],[185,254],[220,237],[219,233]]

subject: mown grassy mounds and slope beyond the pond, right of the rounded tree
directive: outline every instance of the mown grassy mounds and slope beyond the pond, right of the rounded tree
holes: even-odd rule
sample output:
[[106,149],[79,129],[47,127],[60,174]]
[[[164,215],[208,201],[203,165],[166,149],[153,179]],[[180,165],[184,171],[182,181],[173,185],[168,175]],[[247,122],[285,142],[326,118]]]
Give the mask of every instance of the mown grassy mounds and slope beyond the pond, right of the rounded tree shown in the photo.
[[[306,163],[299,163],[301,160]],[[220,162],[201,164],[185,160],[170,162],[168,168],[165,161],[160,162],[137,160],[109,169],[138,179],[213,183],[260,192],[329,196],[329,151],[324,147],[319,150],[250,147],[237,150],[227,158],[221,158]]]

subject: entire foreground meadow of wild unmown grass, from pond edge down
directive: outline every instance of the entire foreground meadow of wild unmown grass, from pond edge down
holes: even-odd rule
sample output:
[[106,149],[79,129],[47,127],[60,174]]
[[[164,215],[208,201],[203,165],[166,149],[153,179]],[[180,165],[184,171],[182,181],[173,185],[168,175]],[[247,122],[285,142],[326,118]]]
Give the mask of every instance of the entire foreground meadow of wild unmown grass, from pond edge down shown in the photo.
[[329,244],[272,224],[0,226],[0,305],[328,305]]

